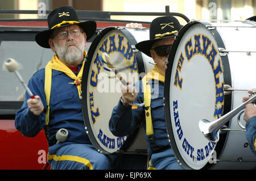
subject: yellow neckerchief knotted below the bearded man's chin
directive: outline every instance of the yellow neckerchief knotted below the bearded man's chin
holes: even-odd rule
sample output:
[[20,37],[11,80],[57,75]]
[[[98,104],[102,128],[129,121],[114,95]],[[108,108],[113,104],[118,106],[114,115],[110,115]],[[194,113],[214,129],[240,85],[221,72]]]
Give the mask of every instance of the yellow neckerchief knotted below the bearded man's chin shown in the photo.
[[[86,56],[86,53],[87,52],[84,50],[84,56]],[[52,57],[52,60],[48,62],[46,67],[54,70],[62,71],[63,73],[68,75],[68,77],[72,78],[74,82],[69,82],[69,83],[77,86],[79,98],[81,98],[81,80],[82,80],[82,70],[84,70],[84,63],[85,63],[85,60],[83,60],[82,67],[79,73],[77,74],[77,76],[73,73],[71,69],[69,69],[65,64],[63,64],[63,62],[59,60],[56,54]]]

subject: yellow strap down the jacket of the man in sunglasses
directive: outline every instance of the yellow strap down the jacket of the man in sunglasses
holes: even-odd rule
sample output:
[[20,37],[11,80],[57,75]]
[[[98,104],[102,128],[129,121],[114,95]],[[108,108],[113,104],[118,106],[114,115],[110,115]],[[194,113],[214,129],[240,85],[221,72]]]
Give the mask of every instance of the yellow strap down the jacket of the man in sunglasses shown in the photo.
[[144,76],[142,79],[143,83],[143,90],[144,90],[144,102],[145,102],[145,115],[146,115],[146,135],[154,134],[153,125],[152,125],[152,118],[151,118],[151,88],[150,85],[147,84],[147,76]]

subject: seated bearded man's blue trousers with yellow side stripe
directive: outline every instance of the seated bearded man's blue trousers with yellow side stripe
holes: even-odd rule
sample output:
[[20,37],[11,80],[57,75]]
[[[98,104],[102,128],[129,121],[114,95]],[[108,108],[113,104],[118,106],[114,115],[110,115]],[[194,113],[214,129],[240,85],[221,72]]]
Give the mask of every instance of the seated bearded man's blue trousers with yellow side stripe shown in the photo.
[[68,144],[48,155],[53,170],[144,170],[147,155],[98,153],[90,144]]

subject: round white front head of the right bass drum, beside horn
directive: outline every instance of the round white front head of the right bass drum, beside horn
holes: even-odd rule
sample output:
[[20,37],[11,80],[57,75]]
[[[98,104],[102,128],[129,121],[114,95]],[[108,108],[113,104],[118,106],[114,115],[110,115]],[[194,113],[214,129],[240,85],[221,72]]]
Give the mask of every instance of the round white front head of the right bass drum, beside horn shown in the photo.
[[176,37],[164,83],[167,132],[185,169],[202,169],[216,143],[199,129],[199,120],[216,120],[224,110],[224,69],[212,32],[199,22],[185,25]]

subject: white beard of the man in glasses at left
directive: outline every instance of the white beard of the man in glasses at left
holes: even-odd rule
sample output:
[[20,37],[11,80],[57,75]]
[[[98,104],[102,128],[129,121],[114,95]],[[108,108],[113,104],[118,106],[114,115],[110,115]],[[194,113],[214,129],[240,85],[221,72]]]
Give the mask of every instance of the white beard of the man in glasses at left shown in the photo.
[[[53,40],[57,56],[67,64],[75,64],[77,61],[81,60],[81,57],[84,54],[84,43],[83,37],[80,45],[76,45],[73,41],[69,41],[64,48],[60,48]],[[75,47],[68,48],[69,45],[75,45]]]

